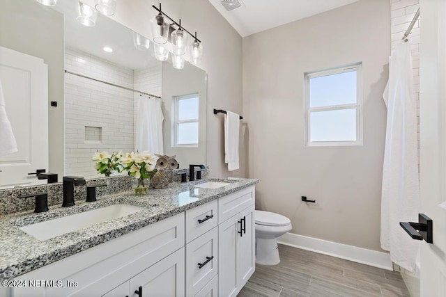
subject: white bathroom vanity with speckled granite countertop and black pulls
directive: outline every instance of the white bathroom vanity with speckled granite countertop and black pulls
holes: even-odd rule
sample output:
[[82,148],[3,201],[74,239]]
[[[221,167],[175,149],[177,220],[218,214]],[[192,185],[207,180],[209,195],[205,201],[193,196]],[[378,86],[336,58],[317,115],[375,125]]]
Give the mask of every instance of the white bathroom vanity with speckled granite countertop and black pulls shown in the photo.
[[[255,269],[257,182],[177,182],[5,216],[1,278],[12,296],[236,296]],[[45,241],[19,229],[116,204],[141,210]]]

